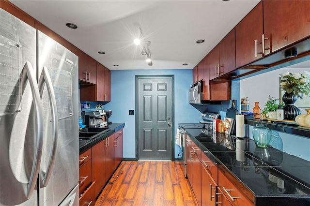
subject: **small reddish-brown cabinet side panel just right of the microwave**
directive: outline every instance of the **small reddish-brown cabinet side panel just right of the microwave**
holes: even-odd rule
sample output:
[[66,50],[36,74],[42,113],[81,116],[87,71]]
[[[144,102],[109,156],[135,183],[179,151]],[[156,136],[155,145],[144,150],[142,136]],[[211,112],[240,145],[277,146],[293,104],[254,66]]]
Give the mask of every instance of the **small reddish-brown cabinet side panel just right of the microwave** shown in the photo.
[[231,81],[210,82],[211,100],[230,100],[231,99]]

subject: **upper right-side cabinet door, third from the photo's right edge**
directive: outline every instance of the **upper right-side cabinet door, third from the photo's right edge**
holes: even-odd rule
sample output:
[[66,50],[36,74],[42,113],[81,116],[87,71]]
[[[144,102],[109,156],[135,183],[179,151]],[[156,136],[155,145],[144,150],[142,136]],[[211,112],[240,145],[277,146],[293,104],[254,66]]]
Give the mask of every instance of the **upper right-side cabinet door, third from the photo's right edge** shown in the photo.
[[236,49],[234,29],[219,43],[219,74],[227,74],[236,69]]

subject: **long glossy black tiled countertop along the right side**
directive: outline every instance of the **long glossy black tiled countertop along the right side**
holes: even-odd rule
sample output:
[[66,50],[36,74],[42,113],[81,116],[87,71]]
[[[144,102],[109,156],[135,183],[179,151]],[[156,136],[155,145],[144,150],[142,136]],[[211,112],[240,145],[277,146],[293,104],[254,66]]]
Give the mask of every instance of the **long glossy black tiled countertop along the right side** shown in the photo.
[[256,205],[265,205],[266,198],[269,201],[271,197],[281,201],[289,198],[291,205],[310,205],[309,161],[272,147],[256,147],[249,138],[184,129],[219,170],[232,174],[253,193]]

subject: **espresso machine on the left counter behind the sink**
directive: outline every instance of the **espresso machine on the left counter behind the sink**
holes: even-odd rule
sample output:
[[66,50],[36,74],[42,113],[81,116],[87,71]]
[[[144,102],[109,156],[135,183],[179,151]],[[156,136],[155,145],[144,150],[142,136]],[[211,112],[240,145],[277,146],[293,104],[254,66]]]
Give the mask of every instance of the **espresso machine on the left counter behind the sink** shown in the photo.
[[108,122],[102,119],[99,111],[83,111],[82,119],[86,127],[107,126]]

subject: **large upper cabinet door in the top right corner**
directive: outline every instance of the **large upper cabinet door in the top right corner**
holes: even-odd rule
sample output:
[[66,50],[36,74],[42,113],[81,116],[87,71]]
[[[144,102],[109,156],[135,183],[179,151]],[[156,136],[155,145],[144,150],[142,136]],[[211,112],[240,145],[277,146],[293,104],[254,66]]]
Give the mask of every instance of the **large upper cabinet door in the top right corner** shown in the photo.
[[[310,35],[309,0],[263,1],[265,47],[274,52]],[[270,50],[265,50],[265,54]]]

